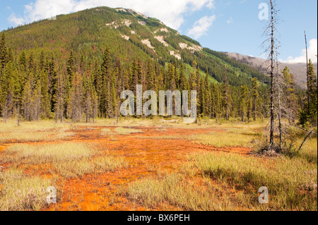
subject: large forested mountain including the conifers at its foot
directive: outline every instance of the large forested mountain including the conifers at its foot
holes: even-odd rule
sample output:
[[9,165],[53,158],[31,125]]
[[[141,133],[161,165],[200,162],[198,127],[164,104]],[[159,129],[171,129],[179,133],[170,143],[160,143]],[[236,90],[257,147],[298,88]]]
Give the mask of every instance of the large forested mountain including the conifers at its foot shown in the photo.
[[0,116],[120,116],[123,90],[196,90],[197,115],[267,116],[269,78],[155,18],[92,8],[0,33]]

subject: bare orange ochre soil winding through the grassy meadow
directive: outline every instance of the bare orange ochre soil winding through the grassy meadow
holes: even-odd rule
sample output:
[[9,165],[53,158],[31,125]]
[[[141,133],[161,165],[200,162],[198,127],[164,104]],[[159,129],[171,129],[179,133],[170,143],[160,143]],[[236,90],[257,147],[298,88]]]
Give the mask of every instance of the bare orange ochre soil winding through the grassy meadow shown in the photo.
[[[116,127],[107,127],[114,132]],[[124,157],[128,162],[127,168],[106,172],[105,174],[86,174],[81,178],[64,179],[57,181],[58,202],[52,204],[47,211],[55,210],[84,210],[84,211],[144,211],[141,204],[131,202],[119,190],[131,182],[141,178],[156,177],[157,171],[170,174],[177,172],[178,166],[187,161],[189,154],[204,152],[235,152],[249,154],[252,150],[245,147],[216,148],[208,145],[199,145],[189,140],[182,139],[184,135],[196,135],[213,132],[223,132],[216,128],[164,128],[134,127],[143,133],[130,135],[101,135],[101,127],[79,127],[73,130],[76,135],[63,142],[87,142],[95,144],[101,152],[105,150],[112,155]],[[116,132],[114,132],[116,133]],[[172,136],[173,139],[160,136]],[[177,139],[180,137],[179,139]],[[61,141],[57,141],[61,142]],[[54,142],[30,142],[28,145],[40,145]],[[0,152],[9,145],[0,145]],[[6,165],[7,167],[10,165]],[[48,171],[49,165],[22,165],[26,174],[40,174],[52,178],[52,174],[43,174]],[[202,182],[197,178],[197,183]],[[193,181],[192,181],[193,182]],[[213,182],[213,181],[211,181]],[[182,210],[171,205],[160,204],[153,210]]]

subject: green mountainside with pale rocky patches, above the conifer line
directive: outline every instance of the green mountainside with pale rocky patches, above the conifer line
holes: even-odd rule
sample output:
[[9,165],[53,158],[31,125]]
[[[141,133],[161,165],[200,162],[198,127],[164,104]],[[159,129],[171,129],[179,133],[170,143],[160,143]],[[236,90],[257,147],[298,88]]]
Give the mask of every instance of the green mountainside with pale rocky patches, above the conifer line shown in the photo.
[[[201,47],[194,39],[168,28],[160,20],[127,8],[91,8],[57,20],[40,20],[4,31],[6,44],[16,59],[24,51],[40,55],[51,51],[57,60],[65,60],[72,50],[77,63],[84,59],[102,59],[108,46],[110,53],[122,61],[155,59],[167,63],[183,61],[189,74],[194,61],[201,74],[208,73],[211,83],[223,83],[225,73],[230,85],[251,85],[257,77],[261,83],[269,78],[256,68],[231,59],[224,53]],[[226,69],[225,69],[226,67]]]

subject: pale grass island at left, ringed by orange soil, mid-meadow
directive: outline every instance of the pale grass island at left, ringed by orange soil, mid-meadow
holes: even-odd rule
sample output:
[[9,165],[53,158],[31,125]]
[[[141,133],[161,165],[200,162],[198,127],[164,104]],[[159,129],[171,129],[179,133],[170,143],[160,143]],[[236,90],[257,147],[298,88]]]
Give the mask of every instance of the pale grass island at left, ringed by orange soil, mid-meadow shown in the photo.
[[3,152],[3,162],[13,164],[49,164],[52,172],[64,178],[96,174],[127,166],[122,157],[101,154],[85,143],[13,145]]

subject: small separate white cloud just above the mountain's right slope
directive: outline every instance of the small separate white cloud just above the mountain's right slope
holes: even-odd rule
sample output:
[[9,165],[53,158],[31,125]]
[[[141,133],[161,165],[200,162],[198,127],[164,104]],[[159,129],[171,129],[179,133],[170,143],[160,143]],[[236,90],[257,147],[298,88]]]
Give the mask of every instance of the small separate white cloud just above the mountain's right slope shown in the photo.
[[216,20],[216,16],[204,16],[196,23],[194,23],[193,28],[188,31],[188,35],[194,37],[194,39],[198,39],[206,34],[208,28],[211,27],[214,20]]

